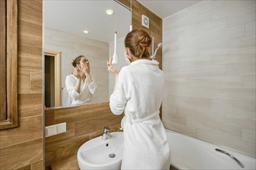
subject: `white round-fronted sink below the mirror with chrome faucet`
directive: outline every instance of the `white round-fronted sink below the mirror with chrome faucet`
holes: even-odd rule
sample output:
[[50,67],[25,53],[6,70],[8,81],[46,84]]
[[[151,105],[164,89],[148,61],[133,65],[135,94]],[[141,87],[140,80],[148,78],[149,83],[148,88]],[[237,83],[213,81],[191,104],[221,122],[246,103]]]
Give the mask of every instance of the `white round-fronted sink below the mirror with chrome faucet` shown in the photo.
[[102,136],[85,142],[78,149],[80,169],[120,169],[123,158],[123,132],[112,132],[106,141]]

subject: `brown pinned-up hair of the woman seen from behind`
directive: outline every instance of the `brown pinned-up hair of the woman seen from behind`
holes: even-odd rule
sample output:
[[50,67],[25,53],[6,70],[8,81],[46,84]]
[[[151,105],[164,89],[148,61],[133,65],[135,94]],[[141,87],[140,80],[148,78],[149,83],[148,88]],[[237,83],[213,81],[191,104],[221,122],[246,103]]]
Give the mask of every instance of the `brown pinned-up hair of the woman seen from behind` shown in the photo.
[[124,39],[124,45],[130,49],[130,53],[137,58],[147,58],[150,52],[147,49],[151,44],[150,35],[143,29],[133,29]]

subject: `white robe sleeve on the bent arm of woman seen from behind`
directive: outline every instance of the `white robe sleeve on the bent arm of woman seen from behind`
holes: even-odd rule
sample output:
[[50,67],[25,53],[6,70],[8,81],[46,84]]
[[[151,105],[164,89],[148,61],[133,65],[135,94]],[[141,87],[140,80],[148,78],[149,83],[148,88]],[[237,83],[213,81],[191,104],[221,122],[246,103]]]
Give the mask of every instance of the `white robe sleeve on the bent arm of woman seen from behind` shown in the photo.
[[123,113],[126,107],[126,102],[133,95],[133,80],[132,76],[126,67],[123,67],[119,72],[119,79],[116,85],[116,90],[111,94],[109,99],[109,107],[113,114],[119,115]]

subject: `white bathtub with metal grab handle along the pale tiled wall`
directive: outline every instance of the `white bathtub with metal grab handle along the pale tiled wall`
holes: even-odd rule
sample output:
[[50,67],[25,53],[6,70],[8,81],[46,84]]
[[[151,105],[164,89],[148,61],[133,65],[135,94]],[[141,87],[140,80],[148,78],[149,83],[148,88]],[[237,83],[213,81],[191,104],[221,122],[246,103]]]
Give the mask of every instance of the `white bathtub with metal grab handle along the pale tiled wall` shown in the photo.
[[[171,146],[171,165],[178,169],[255,169],[255,158],[240,152],[212,145],[205,141],[166,130]],[[229,156],[216,151],[228,152],[237,158],[244,168]]]

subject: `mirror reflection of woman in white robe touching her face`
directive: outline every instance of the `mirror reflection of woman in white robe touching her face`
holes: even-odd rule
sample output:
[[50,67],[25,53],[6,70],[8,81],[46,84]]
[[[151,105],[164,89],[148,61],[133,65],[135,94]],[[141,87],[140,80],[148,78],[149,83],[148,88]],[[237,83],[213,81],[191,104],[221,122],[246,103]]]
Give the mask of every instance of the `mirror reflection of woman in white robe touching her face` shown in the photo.
[[73,73],[66,77],[66,88],[72,104],[84,104],[92,100],[97,84],[90,74],[90,64],[85,56],[78,56],[72,62]]

